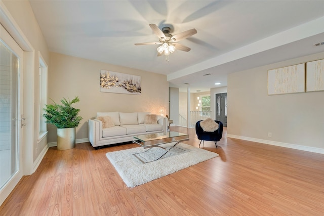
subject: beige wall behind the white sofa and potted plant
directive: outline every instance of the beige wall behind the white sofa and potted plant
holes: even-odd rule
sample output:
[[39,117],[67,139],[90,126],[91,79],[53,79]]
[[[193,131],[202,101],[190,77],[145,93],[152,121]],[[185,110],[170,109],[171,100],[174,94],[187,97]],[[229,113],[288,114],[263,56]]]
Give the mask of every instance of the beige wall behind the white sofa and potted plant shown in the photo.
[[[159,114],[169,107],[169,82],[166,75],[121,67],[57,53],[50,53],[48,96],[55,102],[62,98],[80,98],[75,108],[84,118],[76,128],[76,139],[88,138],[88,119],[97,112],[148,111]],[[141,76],[141,95],[100,92],[100,69]],[[49,103],[51,101],[49,100]],[[56,127],[49,126],[48,142],[56,142]]]

